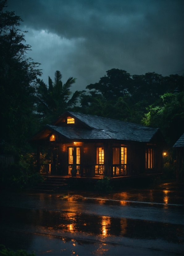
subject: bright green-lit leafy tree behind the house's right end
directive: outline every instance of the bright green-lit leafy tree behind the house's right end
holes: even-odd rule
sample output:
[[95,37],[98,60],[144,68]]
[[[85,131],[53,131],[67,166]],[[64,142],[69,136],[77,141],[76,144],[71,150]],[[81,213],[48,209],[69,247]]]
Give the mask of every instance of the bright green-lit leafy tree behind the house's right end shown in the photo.
[[171,147],[183,134],[183,100],[183,92],[165,93],[148,106],[142,119],[146,126],[159,127]]

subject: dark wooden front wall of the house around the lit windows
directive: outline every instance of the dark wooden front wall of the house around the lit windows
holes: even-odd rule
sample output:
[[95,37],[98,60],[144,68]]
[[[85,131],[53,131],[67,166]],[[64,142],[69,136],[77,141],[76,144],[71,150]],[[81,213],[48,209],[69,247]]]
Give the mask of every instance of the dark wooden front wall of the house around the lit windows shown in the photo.
[[[104,147],[104,176],[113,177],[112,169],[112,148],[121,147],[121,145],[127,147],[127,176],[149,173],[161,173],[162,172],[162,146],[153,145],[149,146],[146,143],[129,142],[125,141],[119,143],[103,142],[103,143],[86,143],[76,142],[74,143],[58,143],[58,171],[59,175],[68,175],[69,156],[68,147],[80,147],[81,153],[81,174],[86,177],[95,176],[95,164],[96,164],[96,148]],[[155,168],[145,169],[145,149],[146,147],[155,148]]]

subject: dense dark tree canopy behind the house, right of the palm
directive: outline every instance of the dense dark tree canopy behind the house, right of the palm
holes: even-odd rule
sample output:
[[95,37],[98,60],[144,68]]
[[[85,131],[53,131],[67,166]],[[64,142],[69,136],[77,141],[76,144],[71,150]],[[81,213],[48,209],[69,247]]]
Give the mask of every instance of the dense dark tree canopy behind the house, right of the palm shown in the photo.
[[86,89],[76,112],[159,127],[170,146],[183,133],[183,76],[131,76],[113,68]]

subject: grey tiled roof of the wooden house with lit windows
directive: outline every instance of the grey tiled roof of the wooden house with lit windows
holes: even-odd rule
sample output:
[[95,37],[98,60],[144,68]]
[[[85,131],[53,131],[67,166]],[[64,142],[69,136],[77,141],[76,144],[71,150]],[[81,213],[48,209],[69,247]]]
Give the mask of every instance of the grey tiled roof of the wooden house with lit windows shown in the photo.
[[79,129],[71,126],[47,125],[48,129],[50,127],[52,131],[55,130],[68,139],[120,139],[149,142],[159,130],[110,118],[74,112],[67,113],[91,127],[91,129]]

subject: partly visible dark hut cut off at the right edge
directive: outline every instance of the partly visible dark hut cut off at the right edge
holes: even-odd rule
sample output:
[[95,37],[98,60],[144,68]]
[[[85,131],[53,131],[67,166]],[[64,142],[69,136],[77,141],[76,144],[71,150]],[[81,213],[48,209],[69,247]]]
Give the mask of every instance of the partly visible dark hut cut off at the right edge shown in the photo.
[[173,148],[176,148],[176,179],[183,183],[183,155],[184,134],[177,140]]

